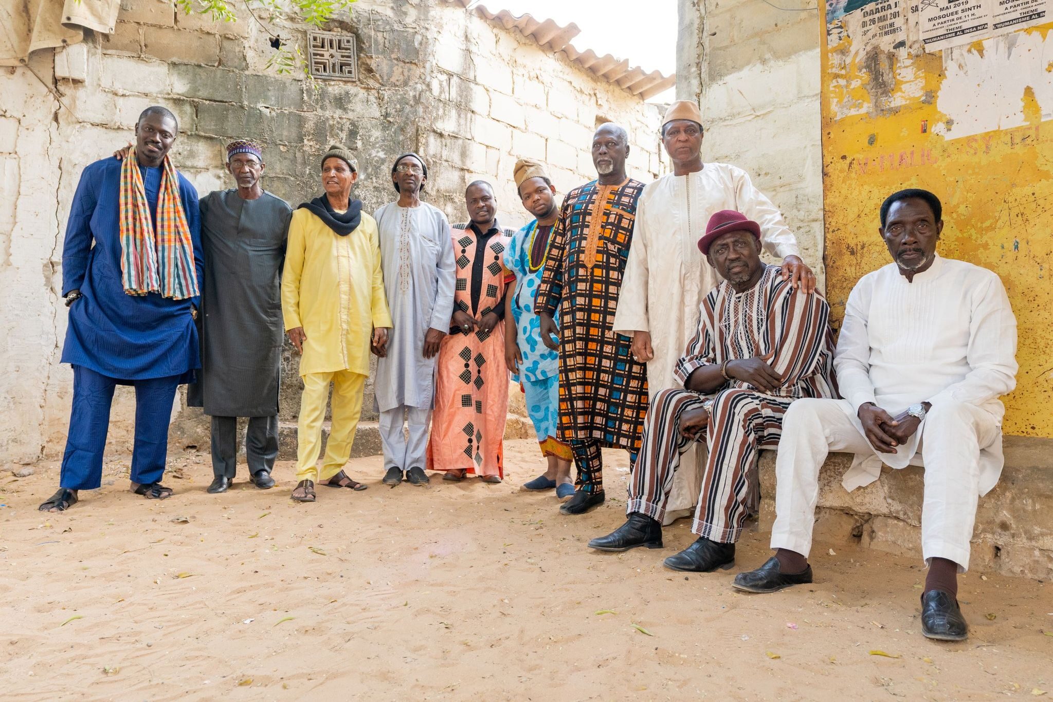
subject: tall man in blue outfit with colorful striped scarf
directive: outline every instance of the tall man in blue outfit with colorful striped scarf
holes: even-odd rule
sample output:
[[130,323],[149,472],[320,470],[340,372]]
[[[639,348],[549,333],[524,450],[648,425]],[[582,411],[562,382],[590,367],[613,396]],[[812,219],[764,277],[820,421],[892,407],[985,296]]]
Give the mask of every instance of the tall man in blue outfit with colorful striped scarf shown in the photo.
[[[161,484],[176,388],[201,367],[194,327],[202,276],[197,190],[168,158],[175,116],[147,107],[136,147],[81,174],[62,249],[73,366],[73,410],[59,490],[40,505],[62,512],[98,488],[117,385],[136,393],[132,492],[164,499]],[[93,245],[94,243],[94,245]]]

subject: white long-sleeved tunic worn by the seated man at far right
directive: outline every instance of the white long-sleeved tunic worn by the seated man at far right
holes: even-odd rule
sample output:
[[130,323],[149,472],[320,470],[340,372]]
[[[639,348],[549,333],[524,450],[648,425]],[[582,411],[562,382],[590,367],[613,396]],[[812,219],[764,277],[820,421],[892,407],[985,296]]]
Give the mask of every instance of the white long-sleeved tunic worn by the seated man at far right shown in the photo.
[[[973,404],[1001,424],[998,398],[1016,386],[1016,318],[998,276],[936,256],[913,282],[890,263],[863,276],[849,295],[834,369],[845,412],[874,402],[892,416],[912,404]],[[922,422],[923,424],[923,422]],[[920,465],[921,428],[895,454],[857,455],[842,484],[854,489],[893,468]],[[1000,433],[1000,430],[999,430]],[[1001,440],[980,450],[980,495],[1001,475]]]

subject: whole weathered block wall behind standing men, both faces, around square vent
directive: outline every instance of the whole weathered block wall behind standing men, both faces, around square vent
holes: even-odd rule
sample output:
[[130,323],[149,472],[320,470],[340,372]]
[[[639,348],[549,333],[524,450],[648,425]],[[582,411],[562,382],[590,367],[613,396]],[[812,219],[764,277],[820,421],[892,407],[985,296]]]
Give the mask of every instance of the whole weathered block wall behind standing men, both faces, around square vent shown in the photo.
[[[0,398],[9,418],[0,423],[0,457],[28,463],[61,455],[72,395],[72,372],[59,363],[69,204],[83,167],[133,139],[151,104],[178,117],[174,159],[202,195],[232,185],[223,145],[246,136],[264,146],[265,187],[294,204],[318,194],[325,146],[346,144],[359,160],[356,196],[366,212],[395,197],[393,158],[417,151],[430,166],[428,198],[453,221],[465,218],[464,185],[483,177],[496,180],[502,221],[522,223],[511,180],[519,155],[551,159],[562,192],[594,178],[589,141],[597,121],[630,131],[635,177],[660,168],[656,108],[463,9],[359,0],[331,28],[357,38],[357,82],[279,76],[266,66],[270,37],[252,18],[215,23],[171,0],[125,3],[112,35],[86,32],[81,44],[37,52],[33,73],[0,67]],[[302,38],[304,29],[281,33]],[[286,347],[285,423],[295,422],[299,390],[297,357]],[[372,408],[367,386],[364,419]],[[131,448],[133,417],[133,394],[120,388],[112,449]],[[207,445],[200,410],[177,402],[173,418],[174,448]]]

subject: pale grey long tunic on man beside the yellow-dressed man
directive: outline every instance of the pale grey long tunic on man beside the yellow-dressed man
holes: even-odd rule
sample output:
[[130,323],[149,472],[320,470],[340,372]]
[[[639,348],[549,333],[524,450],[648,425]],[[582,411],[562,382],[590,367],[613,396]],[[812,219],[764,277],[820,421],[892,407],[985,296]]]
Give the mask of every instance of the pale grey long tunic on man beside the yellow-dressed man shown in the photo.
[[431,409],[435,358],[423,356],[424,335],[429,328],[450,332],[456,277],[450,222],[426,202],[419,207],[390,202],[373,218],[380,232],[384,292],[394,324],[388,356],[377,360],[377,408]]

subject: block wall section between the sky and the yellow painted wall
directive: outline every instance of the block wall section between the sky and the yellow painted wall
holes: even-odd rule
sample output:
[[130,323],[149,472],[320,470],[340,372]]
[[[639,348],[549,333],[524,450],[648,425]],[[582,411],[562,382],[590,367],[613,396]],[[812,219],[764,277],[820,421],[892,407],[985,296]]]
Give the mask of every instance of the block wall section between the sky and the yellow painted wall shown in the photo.
[[[777,3],[787,7],[804,2]],[[812,3],[814,5],[814,3]],[[763,0],[681,0],[678,97],[697,98],[702,157],[733,163],[781,209],[824,281],[819,37],[815,11]],[[692,76],[684,68],[693,69]],[[693,94],[699,91],[697,94]]]

